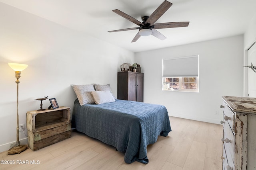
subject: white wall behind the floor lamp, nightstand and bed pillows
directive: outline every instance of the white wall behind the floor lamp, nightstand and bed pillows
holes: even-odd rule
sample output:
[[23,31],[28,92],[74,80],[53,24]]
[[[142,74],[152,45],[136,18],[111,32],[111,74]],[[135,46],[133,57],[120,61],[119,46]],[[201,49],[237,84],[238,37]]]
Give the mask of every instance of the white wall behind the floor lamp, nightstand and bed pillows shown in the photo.
[[[40,109],[34,99],[56,98],[72,112],[76,96],[70,84],[110,83],[116,95],[120,65],[134,63],[130,51],[1,2],[0,24],[0,152],[16,141],[16,79],[8,62],[28,64],[19,84],[19,124],[25,126],[26,112]],[[22,133],[20,139],[27,142]]]

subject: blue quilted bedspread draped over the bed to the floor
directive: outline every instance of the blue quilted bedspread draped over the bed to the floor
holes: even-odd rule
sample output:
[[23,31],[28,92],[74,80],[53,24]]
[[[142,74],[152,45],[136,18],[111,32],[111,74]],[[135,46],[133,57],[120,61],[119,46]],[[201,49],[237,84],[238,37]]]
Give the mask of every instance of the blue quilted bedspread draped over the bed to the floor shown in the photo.
[[126,100],[80,106],[76,99],[72,127],[125,152],[128,164],[147,164],[147,146],[172,131],[165,106]]

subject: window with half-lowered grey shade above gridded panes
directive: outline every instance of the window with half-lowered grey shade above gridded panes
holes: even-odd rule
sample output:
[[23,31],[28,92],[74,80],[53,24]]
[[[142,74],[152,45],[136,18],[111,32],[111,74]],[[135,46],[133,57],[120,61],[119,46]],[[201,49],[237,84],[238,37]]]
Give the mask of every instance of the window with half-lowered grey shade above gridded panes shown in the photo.
[[162,90],[199,92],[198,55],[163,59]]

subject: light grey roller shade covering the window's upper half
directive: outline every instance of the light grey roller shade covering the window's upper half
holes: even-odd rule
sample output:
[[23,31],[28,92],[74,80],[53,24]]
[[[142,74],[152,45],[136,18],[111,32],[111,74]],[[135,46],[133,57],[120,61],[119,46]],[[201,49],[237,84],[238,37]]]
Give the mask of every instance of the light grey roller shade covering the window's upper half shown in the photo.
[[198,55],[163,59],[163,77],[198,77]]

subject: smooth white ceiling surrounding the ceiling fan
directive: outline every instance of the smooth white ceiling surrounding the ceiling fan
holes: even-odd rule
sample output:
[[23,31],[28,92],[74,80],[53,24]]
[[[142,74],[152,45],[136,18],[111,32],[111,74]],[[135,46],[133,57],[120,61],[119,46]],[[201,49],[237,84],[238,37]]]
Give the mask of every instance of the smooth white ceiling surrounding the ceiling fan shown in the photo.
[[131,43],[137,27],[112,10],[118,9],[139,21],[150,16],[164,0],[0,0],[36,16],[81,31],[133,52],[207,41],[246,31],[256,17],[256,0],[169,0],[173,5],[156,23],[190,21],[188,27],[157,29],[167,39],[150,35]]

